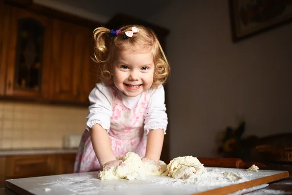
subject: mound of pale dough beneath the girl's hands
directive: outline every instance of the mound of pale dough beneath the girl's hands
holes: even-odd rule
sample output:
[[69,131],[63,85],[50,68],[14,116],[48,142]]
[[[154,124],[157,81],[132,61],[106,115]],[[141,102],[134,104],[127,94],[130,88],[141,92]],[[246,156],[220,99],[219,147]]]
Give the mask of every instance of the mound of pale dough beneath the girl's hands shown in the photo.
[[161,169],[158,170],[154,165],[147,162],[143,163],[141,157],[133,152],[129,152],[118,159],[123,160],[124,165],[101,171],[98,177],[100,179],[141,179],[144,176],[159,176],[163,174],[166,169],[166,164],[163,161],[160,161]]

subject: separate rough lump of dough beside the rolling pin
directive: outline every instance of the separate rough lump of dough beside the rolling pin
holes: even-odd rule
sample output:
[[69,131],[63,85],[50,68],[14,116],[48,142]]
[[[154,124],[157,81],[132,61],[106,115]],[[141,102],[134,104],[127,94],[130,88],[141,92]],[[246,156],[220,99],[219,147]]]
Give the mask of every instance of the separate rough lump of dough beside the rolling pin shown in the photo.
[[187,179],[196,174],[207,172],[198,158],[193,156],[176,157],[170,161],[164,172],[164,176]]

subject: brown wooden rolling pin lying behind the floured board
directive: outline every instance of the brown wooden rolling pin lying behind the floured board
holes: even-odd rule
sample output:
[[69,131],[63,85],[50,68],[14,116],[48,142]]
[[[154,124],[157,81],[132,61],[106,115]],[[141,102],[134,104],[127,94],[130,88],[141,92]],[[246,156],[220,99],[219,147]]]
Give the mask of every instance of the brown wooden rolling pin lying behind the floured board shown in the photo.
[[259,169],[263,169],[266,167],[266,165],[263,163],[243,162],[240,158],[203,158],[203,157],[198,157],[198,159],[206,167],[226,167],[226,168],[248,169],[253,164],[258,166]]

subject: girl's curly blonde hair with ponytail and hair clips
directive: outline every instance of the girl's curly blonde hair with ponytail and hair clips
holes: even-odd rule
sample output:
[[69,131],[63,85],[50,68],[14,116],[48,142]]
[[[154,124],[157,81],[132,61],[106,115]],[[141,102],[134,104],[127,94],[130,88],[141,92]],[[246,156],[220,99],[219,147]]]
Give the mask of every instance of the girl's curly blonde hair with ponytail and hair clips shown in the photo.
[[121,31],[117,36],[110,34],[110,29],[98,27],[93,31],[94,38],[94,61],[99,67],[98,77],[108,85],[113,84],[111,75],[112,63],[115,59],[115,51],[120,49],[150,49],[153,54],[153,62],[155,65],[154,78],[152,87],[157,88],[164,84],[169,73],[170,67],[165,57],[164,51],[157,39],[156,34],[149,28],[142,25],[136,25],[139,33],[128,39],[125,39],[125,32],[130,31],[133,25],[126,25],[120,28]]

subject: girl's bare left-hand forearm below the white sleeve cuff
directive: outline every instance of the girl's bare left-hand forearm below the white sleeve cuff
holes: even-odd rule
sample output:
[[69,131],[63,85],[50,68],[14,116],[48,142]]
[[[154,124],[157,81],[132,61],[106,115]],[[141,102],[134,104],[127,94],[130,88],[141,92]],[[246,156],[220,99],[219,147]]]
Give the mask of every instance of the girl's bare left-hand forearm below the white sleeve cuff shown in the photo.
[[100,166],[103,167],[106,163],[116,160],[107,131],[101,125],[95,124],[91,127],[90,134],[93,150]]

